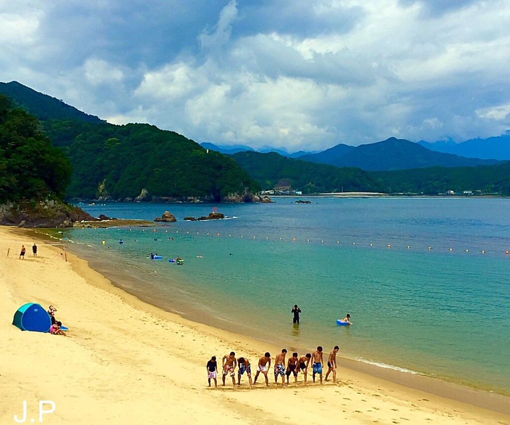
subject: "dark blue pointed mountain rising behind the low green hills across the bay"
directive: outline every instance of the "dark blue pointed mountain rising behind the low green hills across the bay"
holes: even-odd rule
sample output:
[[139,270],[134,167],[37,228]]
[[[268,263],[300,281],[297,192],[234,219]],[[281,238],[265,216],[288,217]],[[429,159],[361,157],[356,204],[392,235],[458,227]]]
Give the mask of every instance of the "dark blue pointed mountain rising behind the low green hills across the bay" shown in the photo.
[[299,157],[300,160],[336,167],[358,167],[367,171],[405,170],[426,167],[473,167],[496,164],[496,160],[465,158],[436,152],[405,139],[391,137],[360,146],[340,144],[323,152]]

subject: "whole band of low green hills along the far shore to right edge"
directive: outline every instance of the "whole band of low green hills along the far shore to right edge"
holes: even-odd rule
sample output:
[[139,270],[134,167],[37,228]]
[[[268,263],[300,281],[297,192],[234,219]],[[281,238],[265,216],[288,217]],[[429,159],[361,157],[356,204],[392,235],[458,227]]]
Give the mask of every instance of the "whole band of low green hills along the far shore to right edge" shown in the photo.
[[237,163],[262,189],[288,182],[303,193],[383,192],[438,195],[481,191],[510,195],[510,162],[477,167],[430,167],[398,171],[362,171],[293,160],[277,153],[240,152]]

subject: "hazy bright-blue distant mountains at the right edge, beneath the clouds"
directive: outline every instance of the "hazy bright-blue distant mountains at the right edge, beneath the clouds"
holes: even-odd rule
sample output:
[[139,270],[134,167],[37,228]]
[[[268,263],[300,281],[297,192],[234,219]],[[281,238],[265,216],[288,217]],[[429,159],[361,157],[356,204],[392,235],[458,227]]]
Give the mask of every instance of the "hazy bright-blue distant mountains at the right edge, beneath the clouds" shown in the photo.
[[452,140],[429,143],[422,140],[418,144],[430,150],[454,153],[468,158],[510,160],[510,130],[502,136],[470,139],[462,143],[455,143]]

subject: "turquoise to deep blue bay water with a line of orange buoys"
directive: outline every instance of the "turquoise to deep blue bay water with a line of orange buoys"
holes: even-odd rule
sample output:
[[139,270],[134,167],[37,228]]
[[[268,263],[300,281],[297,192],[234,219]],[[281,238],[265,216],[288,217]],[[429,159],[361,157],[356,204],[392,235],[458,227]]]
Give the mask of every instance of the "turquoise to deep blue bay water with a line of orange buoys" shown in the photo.
[[[84,206],[179,221],[63,237],[126,289],[192,320],[289,350],[338,344],[349,358],[510,394],[510,199],[310,199]],[[212,207],[232,219],[182,221]],[[168,262],[177,255],[184,265]],[[353,325],[337,326],[347,312]]]

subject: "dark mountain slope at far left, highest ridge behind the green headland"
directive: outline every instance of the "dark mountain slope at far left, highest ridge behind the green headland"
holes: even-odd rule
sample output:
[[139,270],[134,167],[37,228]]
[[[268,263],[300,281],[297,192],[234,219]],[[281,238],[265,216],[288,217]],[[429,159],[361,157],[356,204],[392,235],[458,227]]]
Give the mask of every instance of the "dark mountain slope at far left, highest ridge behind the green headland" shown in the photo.
[[17,81],[0,83],[0,93],[13,99],[17,107],[34,115],[41,121],[55,119],[103,122],[94,115],[85,114],[55,97],[36,92]]

